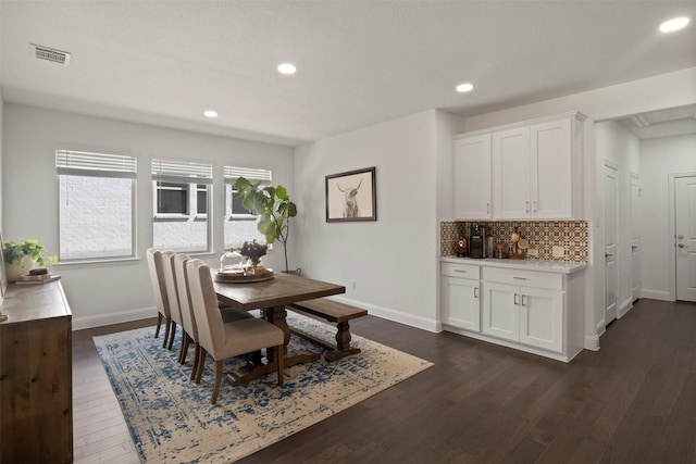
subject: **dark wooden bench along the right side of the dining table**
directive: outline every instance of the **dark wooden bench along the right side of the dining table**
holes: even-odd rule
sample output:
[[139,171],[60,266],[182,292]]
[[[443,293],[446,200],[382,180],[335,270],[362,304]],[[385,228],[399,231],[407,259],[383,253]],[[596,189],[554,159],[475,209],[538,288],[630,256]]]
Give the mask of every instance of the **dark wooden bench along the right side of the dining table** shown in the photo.
[[310,334],[303,333],[302,330],[290,327],[290,331],[293,334],[332,350],[326,353],[326,361],[339,360],[360,352],[359,348],[350,348],[350,326],[348,325],[348,321],[355,319],[356,317],[366,316],[368,311],[326,298],[300,301],[298,303],[288,304],[286,308],[298,313],[310,314],[324,318],[328,322],[336,323],[337,331],[335,346],[318,339]]

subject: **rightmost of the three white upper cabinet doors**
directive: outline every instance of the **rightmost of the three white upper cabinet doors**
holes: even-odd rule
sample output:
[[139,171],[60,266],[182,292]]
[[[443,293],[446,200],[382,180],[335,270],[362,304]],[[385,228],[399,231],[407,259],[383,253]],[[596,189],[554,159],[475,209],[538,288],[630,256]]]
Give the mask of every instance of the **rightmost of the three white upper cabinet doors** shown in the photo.
[[530,128],[531,216],[572,217],[572,146],[570,120],[537,124]]

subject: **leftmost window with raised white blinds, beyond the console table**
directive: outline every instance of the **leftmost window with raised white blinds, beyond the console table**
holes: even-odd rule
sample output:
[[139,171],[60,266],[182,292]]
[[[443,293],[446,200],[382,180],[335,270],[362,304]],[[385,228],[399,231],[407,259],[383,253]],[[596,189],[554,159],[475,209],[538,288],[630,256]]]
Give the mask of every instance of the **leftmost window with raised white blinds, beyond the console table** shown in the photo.
[[59,261],[134,256],[136,159],[58,150]]

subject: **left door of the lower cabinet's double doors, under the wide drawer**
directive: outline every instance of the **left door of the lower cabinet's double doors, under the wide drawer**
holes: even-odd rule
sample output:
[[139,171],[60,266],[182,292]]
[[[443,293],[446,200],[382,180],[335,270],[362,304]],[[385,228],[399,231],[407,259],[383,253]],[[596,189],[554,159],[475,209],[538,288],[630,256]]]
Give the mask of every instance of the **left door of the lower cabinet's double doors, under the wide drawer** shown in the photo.
[[518,341],[520,335],[519,287],[483,283],[483,327],[486,335]]

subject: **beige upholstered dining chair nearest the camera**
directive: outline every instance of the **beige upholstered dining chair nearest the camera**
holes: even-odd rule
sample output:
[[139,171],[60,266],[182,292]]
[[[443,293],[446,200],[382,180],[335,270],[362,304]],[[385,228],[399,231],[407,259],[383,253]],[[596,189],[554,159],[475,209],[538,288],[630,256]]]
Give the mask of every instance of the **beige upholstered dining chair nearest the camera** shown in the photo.
[[[222,381],[222,365],[227,358],[262,348],[274,348],[273,363],[277,367],[278,385],[283,385],[284,334],[275,325],[262,318],[245,318],[223,324],[210,267],[201,260],[186,263],[188,288],[196,315],[198,342],[201,347],[199,376],[206,355],[215,360],[215,384],[211,404],[217,402]],[[200,377],[197,378],[200,381]]]

